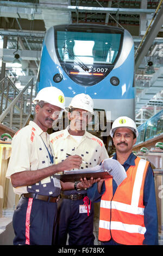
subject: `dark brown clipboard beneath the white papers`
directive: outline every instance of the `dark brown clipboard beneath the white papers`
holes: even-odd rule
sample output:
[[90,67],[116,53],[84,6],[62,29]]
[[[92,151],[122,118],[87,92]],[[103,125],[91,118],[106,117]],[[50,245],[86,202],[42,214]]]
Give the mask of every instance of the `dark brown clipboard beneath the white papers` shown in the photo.
[[86,178],[87,180],[90,180],[90,178],[93,177],[94,179],[101,178],[101,179],[110,179],[112,178],[112,175],[110,175],[108,172],[86,172],[86,173],[76,173],[76,174],[59,174],[59,175],[53,175],[53,178],[57,178],[63,182],[74,182],[74,181],[80,181],[82,178]]

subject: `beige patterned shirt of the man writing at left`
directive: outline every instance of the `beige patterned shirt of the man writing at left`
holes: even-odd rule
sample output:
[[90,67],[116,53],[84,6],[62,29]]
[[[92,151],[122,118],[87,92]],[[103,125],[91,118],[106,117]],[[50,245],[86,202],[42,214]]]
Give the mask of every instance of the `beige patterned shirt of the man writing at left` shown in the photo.
[[[29,125],[18,131],[11,144],[11,156],[7,169],[7,178],[17,172],[24,170],[37,170],[52,165],[49,153],[53,155],[52,147],[49,147],[49,135],[33,121]],[[54,160],[55,162],[55,160]],[[41,172],[41,170],[40,170]],[[32,186],[22,186],[14,188],[17,194],[37,193],[44,196],[58,196],[60,188],[55,188],[53,177],[47,177]]]

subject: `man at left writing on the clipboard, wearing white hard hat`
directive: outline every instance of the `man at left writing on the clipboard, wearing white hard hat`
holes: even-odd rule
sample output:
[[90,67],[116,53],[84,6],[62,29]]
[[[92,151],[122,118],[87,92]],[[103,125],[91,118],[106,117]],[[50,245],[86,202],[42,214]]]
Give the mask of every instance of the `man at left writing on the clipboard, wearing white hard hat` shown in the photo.
[[[14,192],[21,196],[12,221],[14,245],[52,245],[61,190],[60,181],[53,178],[53,174],[79,168],[82,163],[81,156],[70,156],[55,164],[53,149],[49,145],[47,129],[65,110],[65,96],[61,90],[43,88],[34,103],[34,121],[30,121],[12,139],[6,174],[11,179]],[[68,188],[73,186],[74,183]]]

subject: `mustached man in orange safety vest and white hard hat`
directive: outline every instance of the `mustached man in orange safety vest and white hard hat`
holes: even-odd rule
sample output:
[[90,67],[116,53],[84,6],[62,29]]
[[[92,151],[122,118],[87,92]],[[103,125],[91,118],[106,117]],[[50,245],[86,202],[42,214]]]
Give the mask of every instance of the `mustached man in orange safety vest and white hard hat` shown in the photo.
[[[118,187],[108,179],[87,190],[93,201],[101,200],[98,239],[101,245],[158,245],[154,175],[150,163],[132,153],[135,122],[117,118],[110,136],[116,147],[112,158],[122,164],[127,178]],[[107,169],[107,162],[102,164]]]

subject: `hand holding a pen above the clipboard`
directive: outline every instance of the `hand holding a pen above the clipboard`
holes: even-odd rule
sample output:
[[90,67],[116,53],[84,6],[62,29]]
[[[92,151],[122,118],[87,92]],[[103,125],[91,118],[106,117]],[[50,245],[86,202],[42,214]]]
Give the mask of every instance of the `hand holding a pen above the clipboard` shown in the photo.
[[68,156],[64,161],[58,163],[59,169],[72,170],[73,168],[79,169],[82,164],[82,157],[78,155]]

